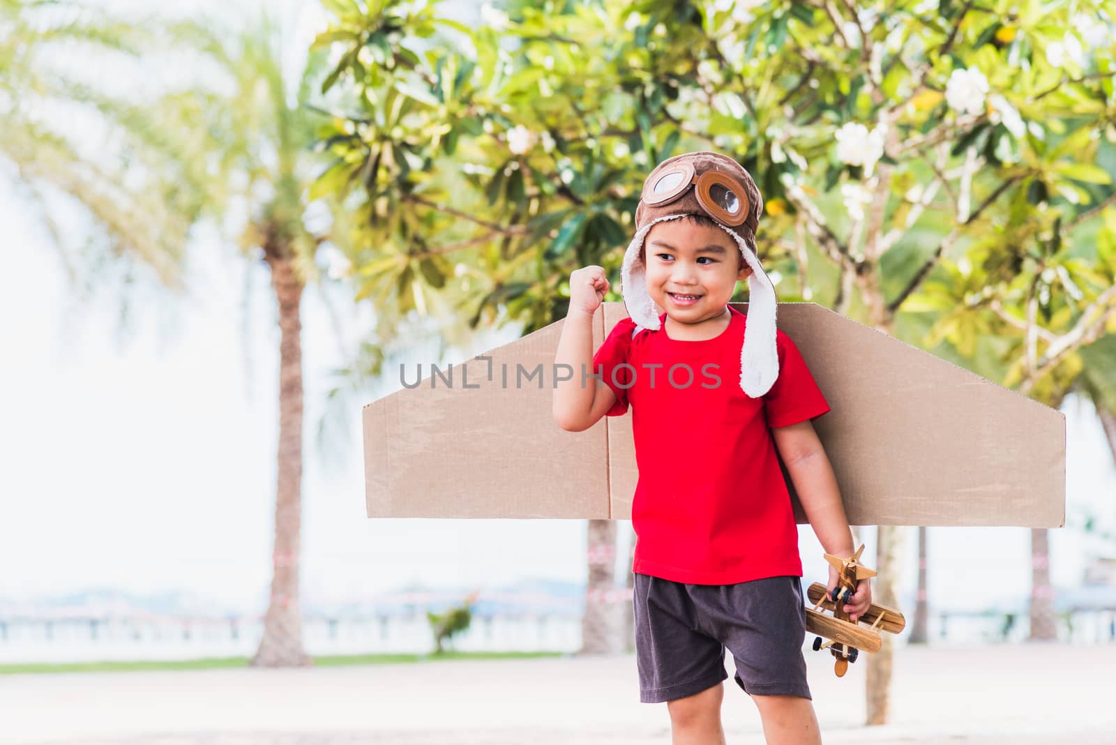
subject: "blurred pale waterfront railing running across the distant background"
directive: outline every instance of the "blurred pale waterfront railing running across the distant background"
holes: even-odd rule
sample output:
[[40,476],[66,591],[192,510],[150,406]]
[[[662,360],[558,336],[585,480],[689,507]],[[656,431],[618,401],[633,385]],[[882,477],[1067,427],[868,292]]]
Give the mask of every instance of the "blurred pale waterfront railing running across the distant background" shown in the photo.
[[[616,603],[617,623],[631,608]],[[1116,642],[1116,609],[1080,609],[1059,616],[1059,638],[1071,644]],[[88,660],[250,657],[262,635],[260,617],[0,618],[0,664]],[[944,612],[930,617],[931,644],[1012,644],[1027,639],[1024,615]],[[901,635],[905,644],[908,633]],[[429,654],[433,635],[425,611],[405,615],[309,615],[306,650],[315,656]],[[809,640],[808,640],[809,641]],[[459,651],[574,652],[581,617],[573,613],[474,615],[470,628],[448,645]]]

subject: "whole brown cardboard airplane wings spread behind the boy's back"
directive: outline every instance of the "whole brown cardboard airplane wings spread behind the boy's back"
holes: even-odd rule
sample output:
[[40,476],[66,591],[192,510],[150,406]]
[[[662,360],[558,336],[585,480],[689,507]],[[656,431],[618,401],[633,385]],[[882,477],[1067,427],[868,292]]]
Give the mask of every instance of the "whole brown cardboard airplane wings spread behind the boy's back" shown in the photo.
[[[594,349],[626,317],[602,304]],[[779,303],[778,318],[831,407],[814,425],[852,524],[1065,524],[1065,415],[816,303]],[[629,519],[631,412],[580,433],[554,422],[564,322],[423,365],[417,385],[412,366],[365,406],[368,516]]]

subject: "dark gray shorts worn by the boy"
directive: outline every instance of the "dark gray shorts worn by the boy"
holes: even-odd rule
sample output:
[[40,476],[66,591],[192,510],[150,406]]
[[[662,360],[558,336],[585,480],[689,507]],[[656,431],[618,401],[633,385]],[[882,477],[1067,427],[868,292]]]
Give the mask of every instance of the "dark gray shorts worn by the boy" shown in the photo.
[[636,574],[633,604],[641,702],[684,698],[721,683],[729,677],[725,648],[749,695],[810,698],[800,578],[683,584]]

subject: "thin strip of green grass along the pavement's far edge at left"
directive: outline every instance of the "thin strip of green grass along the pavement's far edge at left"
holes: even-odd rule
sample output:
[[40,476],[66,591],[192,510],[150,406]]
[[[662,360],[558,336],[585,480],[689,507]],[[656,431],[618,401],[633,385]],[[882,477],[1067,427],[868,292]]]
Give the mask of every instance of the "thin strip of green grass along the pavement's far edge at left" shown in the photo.
[[[434,662],[454,659],[537,659],[565,657],[567,652],[468,652],[446,651],[441,655],[324,655],[314,658],[315,667],[341,667],[347,665],[405,665],[408,662]],[[104,662],[30,662],[26,665],[0,665],[0,675],[22,675],[33,673],[134,673],[143,670],[219,670],[248,667],[247,657],[213,657],[190,660],[121,660]]]

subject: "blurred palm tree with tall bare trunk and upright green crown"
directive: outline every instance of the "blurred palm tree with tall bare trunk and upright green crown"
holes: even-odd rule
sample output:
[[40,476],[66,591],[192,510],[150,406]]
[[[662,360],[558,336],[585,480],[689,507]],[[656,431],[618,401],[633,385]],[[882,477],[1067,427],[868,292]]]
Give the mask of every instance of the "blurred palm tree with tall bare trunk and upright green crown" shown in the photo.
[[[279,442],[272,578],[263,635],[254,666],[309,665],[302,648],[299,567],[302,522],[302,350],[301,299],[319,279],[315,265],[324,236],[304,221],[317,158],[311,154],[319,115],[308,105],[319,76],[320,56],[311,55],[289,95],[283,75],[286,39],[276,20],[263,14],[228,37],[202,26],[180,36],[220,64],[231,94],[209,112],[223,136],[212,143],[222,173],[239,174],[248,220],[239,236],[247,257],[260,258],[271,274],[278,307]],[[340,220],[339,214],[334,215]],[[334,234],[343,234],[335,230]]]

